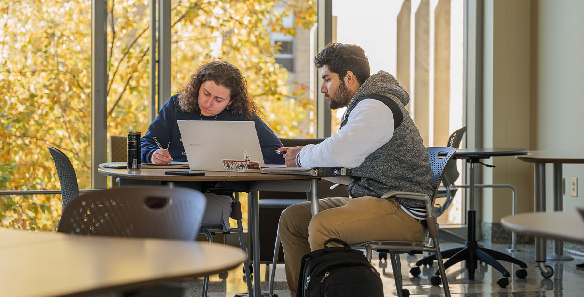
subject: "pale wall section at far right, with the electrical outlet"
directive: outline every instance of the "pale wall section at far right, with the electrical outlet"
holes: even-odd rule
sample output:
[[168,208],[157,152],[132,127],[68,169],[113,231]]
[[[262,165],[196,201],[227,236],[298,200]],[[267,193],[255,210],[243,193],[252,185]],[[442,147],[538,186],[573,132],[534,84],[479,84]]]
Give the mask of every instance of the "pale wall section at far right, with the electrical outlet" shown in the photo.
[[[537,1],[537,39],[533,78],[534,149],[584,153],[584,1]],[[584,205],[584,164],[563,166],[564,210]],[[546,170],[546,209],[552,210],[552,170]],[[578,197],[569,194],[569,177],[578,177]]]

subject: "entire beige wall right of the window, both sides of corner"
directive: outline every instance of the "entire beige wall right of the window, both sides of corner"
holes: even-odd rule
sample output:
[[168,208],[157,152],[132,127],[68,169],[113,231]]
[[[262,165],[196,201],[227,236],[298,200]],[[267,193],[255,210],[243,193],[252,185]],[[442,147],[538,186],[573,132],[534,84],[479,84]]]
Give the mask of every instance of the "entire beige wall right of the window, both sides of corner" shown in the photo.
[[[584,1],[485,0],[484,146],[584,153]],[[533,211],[533,165],[493,158],[484,182],[515,185],[519,212]],[[552,168],[546,170],[552,210]],[[578,177],[577,198],[569,177]],[[584,205],[584,165],[564,165],[564,210]],[[506,197],[506,198],[505,198]],[[509,214],[510,195],[484,192],[483,220]]]

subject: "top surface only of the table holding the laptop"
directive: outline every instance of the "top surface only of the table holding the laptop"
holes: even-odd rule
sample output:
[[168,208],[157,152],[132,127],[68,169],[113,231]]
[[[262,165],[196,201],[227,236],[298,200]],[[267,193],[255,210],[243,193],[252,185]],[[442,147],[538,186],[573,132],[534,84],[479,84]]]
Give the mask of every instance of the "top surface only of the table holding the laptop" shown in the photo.
[[98,172],[115,178],[142,179],[146,181],[273,181],[314,178],[306,175],[261,174],[233,171],[204,171],[205,175],[187,177],[182,175],[166,175],[164,171],[167,170],[169,169],[127,170],[99,167]]

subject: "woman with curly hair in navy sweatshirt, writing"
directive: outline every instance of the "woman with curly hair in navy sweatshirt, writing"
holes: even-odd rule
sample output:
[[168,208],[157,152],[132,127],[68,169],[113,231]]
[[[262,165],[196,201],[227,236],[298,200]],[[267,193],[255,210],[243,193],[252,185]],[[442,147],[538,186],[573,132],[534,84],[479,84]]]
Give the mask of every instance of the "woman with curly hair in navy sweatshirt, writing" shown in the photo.
[[[148,127],[142,137],[142,163],[187,161],[176,120],[253,120],[264,163],[284,164],[284,158],[276,154],[282,146],[280,140],[258,115],[262,113],[249,98],[245,78],[237,67],[223,61],[201,65]],[[162,144],[170,143],[168,150],[160,150],[154,136]]]

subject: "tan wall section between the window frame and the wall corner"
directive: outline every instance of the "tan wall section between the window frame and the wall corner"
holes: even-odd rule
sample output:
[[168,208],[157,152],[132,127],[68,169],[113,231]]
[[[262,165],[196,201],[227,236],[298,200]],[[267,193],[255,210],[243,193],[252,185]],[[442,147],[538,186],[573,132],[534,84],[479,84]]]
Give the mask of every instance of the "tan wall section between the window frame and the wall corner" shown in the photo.
[[[484,147],[530,147],[531,1],[486,0],[484,30]],[[514,157],[485,160],[486,184],[512,184],[519,212],[533,210],[532,165]],[[512,194],[485,189],[482,220],[499,222],[512,212]]]

